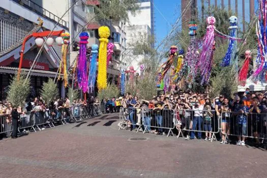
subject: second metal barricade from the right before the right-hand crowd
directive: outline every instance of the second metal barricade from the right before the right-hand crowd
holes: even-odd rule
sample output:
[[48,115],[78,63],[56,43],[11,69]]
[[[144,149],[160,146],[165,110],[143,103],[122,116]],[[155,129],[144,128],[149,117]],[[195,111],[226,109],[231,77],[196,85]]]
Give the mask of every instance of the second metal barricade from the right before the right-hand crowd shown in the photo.
[[177,138],[186,134],[187,139],[189,136],[194,139],[197,132],[197,138],[202,138],[202,133],[205,133],[205,137],[211,142],[217,140],[215,134],[219,133],[219,121],[215,110],[176,110],[175,120],[179,131]]

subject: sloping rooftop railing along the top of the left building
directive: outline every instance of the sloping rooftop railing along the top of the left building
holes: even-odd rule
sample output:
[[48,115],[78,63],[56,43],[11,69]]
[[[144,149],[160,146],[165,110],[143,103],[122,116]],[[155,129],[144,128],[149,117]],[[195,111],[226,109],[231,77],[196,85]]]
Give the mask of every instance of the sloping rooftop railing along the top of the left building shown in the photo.
[[32,2],[31,0],[12,0],[22,6],[24,6],[25,8],[32,10],[34,12],[36,12],[37,14],[42,15],[43,17],[47,17],[48,19],[54,21],[54,22],[58,22],[59,24],[61,24],[62,26],[68,28],[68,22],[66,22],[65,20],[60,20],[60,17],[54,15],[53,13],[51,13],[50,11],[44,9],[43,7],[41,7],[40,5]]

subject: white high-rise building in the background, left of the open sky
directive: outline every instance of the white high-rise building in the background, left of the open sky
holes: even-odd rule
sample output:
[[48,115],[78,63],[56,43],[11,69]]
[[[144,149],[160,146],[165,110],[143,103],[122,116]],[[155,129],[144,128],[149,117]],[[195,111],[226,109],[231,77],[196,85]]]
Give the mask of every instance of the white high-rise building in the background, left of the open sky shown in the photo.
[[[133,66],[139,73],[140,62],[145,57],[144,54],[134,53],[131,43],[134,43],[142,36],[149,38],[150,35],[154,35],[154,0],[139,0],[139,9],[136,14],[132,14],[130,11],[129,23],[126,24],[126,39],[127,39],[127,67]],[[154,47],[154,44],[151,44]]]

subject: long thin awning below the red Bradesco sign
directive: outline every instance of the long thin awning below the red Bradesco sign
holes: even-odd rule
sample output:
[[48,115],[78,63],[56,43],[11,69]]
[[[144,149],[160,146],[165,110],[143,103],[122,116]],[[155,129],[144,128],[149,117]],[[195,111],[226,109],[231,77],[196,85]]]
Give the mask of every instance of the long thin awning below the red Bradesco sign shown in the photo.
[[[7,67],[7,66],[0,66],[0,73],[6,73],[6,74],[15,74],[18,71],[18,68],[16,67]],[[21,69],[21,73],[28,72],[29,69]],[[41,71],[41,70],[32,70],[31,75],[34,76],[40,76],[40,77],[55,77],[55,75],[58,74],[56,72],[51,71]],[[61,78],[63,78],[63,75],[61,74]]]

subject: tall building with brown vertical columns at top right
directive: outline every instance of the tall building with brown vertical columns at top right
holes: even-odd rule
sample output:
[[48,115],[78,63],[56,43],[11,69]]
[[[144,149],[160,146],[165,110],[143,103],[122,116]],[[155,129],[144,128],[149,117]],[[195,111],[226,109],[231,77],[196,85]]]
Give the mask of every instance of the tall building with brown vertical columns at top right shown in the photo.
[[[181,0],[181,12],[183,12],[190,0]],[[220,7],[232,12],[239,19],[241,31],[245,31],[246,23],[249,23],[257,10],[257,0],[193,0],[194,6],[189,5],[182,17],[182,27],[186,28],[191,20],[192,11],[197,12],[198,18],[202,18],[202,7]],[[203,17],[205,18],[205,17]]]

